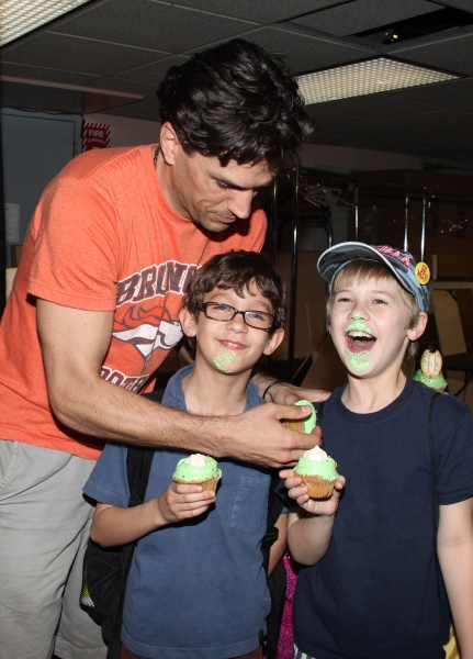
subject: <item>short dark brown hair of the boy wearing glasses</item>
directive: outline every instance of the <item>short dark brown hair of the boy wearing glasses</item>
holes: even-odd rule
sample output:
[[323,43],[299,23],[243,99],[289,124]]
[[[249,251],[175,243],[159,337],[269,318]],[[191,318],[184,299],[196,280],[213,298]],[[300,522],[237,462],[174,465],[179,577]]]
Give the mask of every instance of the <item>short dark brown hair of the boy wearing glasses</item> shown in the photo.
[[252,282],[271,304],[272,334],[285,323],[285,284],[271,263],[256,252],[228,252],[211,258],[192,277],[182,306],[196,316],[205,294],[215,288],[232,289],[243,298]]

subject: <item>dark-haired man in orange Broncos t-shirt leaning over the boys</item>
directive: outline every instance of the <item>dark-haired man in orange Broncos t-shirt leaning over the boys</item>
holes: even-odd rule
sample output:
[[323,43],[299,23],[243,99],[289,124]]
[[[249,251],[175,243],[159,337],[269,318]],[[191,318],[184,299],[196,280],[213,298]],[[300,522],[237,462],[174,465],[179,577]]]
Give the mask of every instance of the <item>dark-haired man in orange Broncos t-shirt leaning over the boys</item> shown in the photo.
[[[195,269],[215,254],[261,249],[266,217],[254,196],[312,131],[294,80],[240,40],[172,67],[158,96],[159,146],[90,152],[46,188],[2,320],[8,658],[48,659],[53,648],[63,659],[105,656],[78,606],[92,512],[81,490],[99,437],[273,467],[314,444],[279,423],[304,407],[261,405],[229,422],[138,395],[182,336],[178,311]],[[257,379],[261,395],[270,384]],[[268,391],[277,403],[307,395],[282,383]]]

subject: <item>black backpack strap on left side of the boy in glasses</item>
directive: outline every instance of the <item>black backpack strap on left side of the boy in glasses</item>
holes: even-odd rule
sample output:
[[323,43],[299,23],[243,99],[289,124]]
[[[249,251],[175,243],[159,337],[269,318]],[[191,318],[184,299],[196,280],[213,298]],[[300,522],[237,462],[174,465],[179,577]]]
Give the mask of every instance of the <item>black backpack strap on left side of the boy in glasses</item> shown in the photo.
[[[159,403],[162,400],[165,390],[159,389],[149,394],[144,394],[146,398]],[[126,476],[128,479],[129,501],[128,507],[139,505],[146,496],[148,487],[149,472],[151,470],[155,449],[145,448],[143,446],[129,446],[126,457]],[[123,624],[123,606],[125,603],[126,581],[128,579],[129,568],[132,566],[133,554],[137,540],[129,543],[122,548],[120,559],[120,573],[122,576],[122,590],[120,593],[120,604],[116,611],[115,625],[109,643],[106,659],[120,659],[121,641],[122,641],[122,624]]]

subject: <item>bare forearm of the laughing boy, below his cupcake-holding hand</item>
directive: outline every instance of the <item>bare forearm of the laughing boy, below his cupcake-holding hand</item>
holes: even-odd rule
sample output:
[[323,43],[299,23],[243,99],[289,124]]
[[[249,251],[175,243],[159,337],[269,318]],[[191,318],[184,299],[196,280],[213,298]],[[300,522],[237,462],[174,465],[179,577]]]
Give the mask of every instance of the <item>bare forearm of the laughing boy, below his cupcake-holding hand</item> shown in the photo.
[[335,515],[296,512],[289,515],[288,545],[297,562],[314,566],[327,552]]

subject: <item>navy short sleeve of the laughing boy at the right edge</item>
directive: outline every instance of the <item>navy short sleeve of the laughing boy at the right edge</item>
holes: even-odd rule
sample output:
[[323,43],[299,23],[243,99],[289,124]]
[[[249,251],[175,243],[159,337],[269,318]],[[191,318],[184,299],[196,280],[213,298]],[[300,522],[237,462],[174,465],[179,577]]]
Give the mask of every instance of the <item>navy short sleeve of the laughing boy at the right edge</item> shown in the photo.
[[432,414],[437,499],[449,505],[473,496],[473,421],[452,395],[437,399]]

